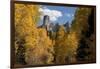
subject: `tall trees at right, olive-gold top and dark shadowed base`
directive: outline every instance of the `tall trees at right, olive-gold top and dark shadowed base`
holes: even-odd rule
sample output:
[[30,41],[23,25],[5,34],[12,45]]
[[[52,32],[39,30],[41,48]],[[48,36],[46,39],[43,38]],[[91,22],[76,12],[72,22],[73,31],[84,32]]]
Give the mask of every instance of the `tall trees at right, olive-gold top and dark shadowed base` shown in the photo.
[[[79,36],[79,44],[77,49],[77,55],[76,59],[77,61],[86,61],[90,62],[91,57],[90,54],[92,52],[95,52],[95,39],[90,39],[93,37],[94,34],[94,22],[95,16],[94,16],[94,9],[93,8],[86,8],[86,7],[79,7],[76,10],[75,19],[72,22],[71,29],[72,31],[77,32],[77,35]],[[78,39],[77,39],[78,40]],[[76,41],[77,41],[76,40]],[[92,41],[91,41],[92,40]],[[77,45],[77,43],[75,43]],[[94,47],[91,51],[90,48]],[[95,55],[92,54],[93,57]],[[95,62],[92,59],[91,61]]]

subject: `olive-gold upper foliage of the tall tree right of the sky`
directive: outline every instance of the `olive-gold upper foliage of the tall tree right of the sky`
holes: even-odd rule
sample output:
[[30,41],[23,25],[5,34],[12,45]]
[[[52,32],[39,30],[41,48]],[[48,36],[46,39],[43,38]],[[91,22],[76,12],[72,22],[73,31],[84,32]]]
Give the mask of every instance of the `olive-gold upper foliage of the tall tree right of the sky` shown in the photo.
[[91,13],[91,8],[77,8],[75,19],[72,22],[72,30],[76,31],[78,34],[81,32],[85,32],[89,25],[88,25],[88,16]]

